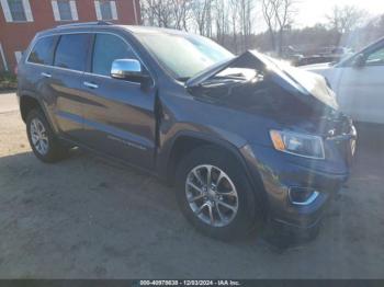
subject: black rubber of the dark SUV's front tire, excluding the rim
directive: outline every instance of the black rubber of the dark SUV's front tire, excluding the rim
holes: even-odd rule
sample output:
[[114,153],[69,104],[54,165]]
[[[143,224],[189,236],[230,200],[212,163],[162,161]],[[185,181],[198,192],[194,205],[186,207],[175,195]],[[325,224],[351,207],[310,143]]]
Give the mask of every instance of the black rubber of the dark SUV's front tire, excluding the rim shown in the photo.
[[[185,185],[188,175],[195,167],[202,164],[219,168],[229,176],[236,187],[238,209],[236,216],[227,226],[215,227],[204,222],[192,210],[187,198]],[[203,146],[194,149],[191,153],[183,157],[177,167],[176,196],[181,211],[197,230],[215,239],[224,241],[241,239],[260,226],[262,216],[261,209],[256,204],[258,200],[256,200],[255,192],[241,164],[228,152],[214,146]]]

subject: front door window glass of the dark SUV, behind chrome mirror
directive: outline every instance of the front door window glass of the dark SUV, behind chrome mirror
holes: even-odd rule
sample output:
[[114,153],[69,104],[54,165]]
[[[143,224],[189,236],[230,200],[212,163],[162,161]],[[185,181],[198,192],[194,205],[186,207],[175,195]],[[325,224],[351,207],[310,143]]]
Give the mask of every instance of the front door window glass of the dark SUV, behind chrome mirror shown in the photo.
[[92,72],[110,76],[115,59],[135,59],[128,45],[117,36],[97,34],[93,47]]

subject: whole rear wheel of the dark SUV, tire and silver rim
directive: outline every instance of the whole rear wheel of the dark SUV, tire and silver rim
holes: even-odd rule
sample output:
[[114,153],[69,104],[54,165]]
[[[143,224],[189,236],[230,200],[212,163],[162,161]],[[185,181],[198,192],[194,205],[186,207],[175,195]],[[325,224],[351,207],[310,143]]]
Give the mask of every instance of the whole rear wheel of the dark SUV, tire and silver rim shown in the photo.
[[[68,156],[69,149],[59,142],[42,110],[32,110],[25,123],[30,146],[41,161],[54,163]],[[39,135],[37,141],[36,135]]]

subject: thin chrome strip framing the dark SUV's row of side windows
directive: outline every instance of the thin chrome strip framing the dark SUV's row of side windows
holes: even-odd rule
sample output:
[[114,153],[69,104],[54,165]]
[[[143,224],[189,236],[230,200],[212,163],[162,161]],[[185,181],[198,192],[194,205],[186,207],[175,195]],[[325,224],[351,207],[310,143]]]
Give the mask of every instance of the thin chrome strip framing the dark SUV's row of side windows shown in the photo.
[[[98,73],[92,73],[92,72],[87,72],[87,71],[78,71],[78,70],[61,68],[61,67],[57,67],[57,66],[53,66],[53,65],[43,65],[43,64],[36,64],[36,62],[29,61],[31,53],[32,53],[32,50],[34,49],[34,47],[36,46],[36,44],[37,44],[37,42],[39,39],[45,38],[45,37],[54,37],[54,36],[61,36],[61,35],[74,35],[74,34],[109,34],[109,35],[114,35],[114,36],[121,38],[128,46],[128,48],[131,48],[131,50],[137,57],[137,59],[140,61],[140,64],[147,69],[147,71],[149,72],[150,78],[153,80],[151,88],[155,87],[154,73],[150,71],[150,69],[148,69],[148,66],[144,62],[142,57],[137,54],[137,51],[134,49],[134,47],[124,37],[122,37],[121,35],[118,35],[116,33],[113,33],[113,32],[100,32],[100,31],[57,32],[57,33],[52,33],[49,35],[43,35],[43,36],[38,36],[38,34],[36,34],[33,43],[30,46],[30,49],[27,50],[27,54],[25,55],[24,64],[25,65],[32,65],[32,66],[46,67],[46,68],[52,68],[52,69],[58,69],[58,70],[65,70],[65,71],[72,71],[72,72],[77,72],[77,73],[83,73],[83,74],[87,74],[87,76],[102,77],[102,78],[108,78],[108,79],[111,79],[111,80],[116,80],[116,79],[113,79],[112,77],[104,76],[104,74],[98,74]],[[126,81],[126,82],[138,84],[138,85],[140,84],[140,83],[133,82],[133,81]]]

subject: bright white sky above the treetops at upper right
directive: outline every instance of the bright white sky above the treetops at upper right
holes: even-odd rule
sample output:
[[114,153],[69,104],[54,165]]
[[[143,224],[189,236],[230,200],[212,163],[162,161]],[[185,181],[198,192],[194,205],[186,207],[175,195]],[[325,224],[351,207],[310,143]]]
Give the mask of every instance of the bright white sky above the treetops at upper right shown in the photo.
[[326,14],[335,5],[355,5],[364,9],[369,14],[384,14],[384,0],[297,0],[297,26],[312,26],[318,22],[326,21]]

